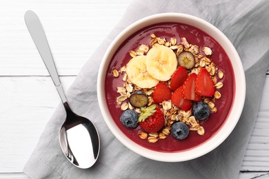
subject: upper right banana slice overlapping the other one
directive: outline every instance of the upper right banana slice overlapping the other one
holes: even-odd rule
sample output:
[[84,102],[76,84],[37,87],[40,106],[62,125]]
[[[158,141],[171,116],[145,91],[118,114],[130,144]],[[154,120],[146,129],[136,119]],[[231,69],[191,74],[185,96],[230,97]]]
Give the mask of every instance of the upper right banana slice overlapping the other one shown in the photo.
[[177,56],[168,47],[157,45],[146,56],[148,73],[159,81],[168,81],[177,70]]

